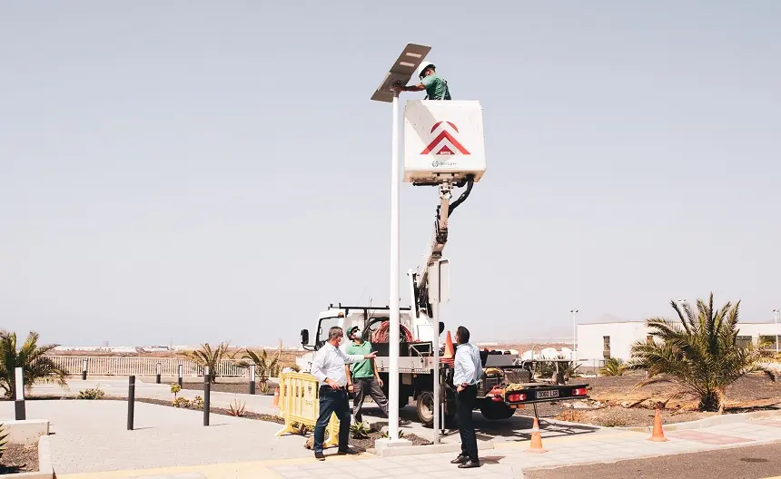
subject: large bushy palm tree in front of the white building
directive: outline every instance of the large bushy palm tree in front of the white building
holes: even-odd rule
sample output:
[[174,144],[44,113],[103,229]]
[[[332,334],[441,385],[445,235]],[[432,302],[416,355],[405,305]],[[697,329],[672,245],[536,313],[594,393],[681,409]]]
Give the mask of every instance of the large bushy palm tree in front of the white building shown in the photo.
[[697,299],[697,315],[688,304],[680,308],[670,301],[680,324],[667,318],[650,318],[646,326],[657,340],[638,341],[632,346],[631,369],[645,369],[648,379],[638,386],[672,382],[679,389],[673,396],[694,396],[702,411],[724,410],[727,386],[740,377],[765,373],[776,375],[761,363],[765,353],[753,345],[737,345],[740,301],[713,308],[713,293],[707,303]]

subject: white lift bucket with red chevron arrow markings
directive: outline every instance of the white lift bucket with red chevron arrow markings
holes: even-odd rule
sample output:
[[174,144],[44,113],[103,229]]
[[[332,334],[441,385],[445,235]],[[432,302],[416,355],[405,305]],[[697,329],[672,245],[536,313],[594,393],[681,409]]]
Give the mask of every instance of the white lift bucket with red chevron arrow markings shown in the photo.
[[404,181],[477,182],[486,170],[482,107],[477,101],[413,100],[404,108]]

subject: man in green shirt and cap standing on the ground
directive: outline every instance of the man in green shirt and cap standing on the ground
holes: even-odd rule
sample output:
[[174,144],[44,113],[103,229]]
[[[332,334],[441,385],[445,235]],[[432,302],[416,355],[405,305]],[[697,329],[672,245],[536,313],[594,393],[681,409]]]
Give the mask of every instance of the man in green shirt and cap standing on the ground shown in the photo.
[[[352,340],[352,344],[345,351],[348,355],[367,355],[371,353],[371,343],[364,341],[361,337],[361,329],[353,326],[347,330],[347,337]],[[365,351],[365,352],[361,352]],[[388,417],[388,399],[382,392],[382,379],[377,370],[377,364],[371,359],[344,365],[344,372],[347,375],[347,390],[355,394],[352,405],[352,416],[356,423],[362,420],[361,407],[363,399],[367,395],[380,406],[382,414]],[[399,425],[409,425],[407,419],[399,419]]]

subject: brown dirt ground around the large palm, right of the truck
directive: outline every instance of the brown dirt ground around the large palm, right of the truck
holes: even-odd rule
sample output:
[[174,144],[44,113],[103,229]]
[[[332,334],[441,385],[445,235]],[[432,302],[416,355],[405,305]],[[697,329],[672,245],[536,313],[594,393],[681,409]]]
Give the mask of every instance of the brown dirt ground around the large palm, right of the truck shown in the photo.
[[[606,427],[653,425],[654,406],[667,401],[675,389],[667,384],[635,388],[644,377],[635,374],[573,378],[570,384],[585,383],[590,386],[590,399],[544,403],[538,405],[539,416]],[[717,414],[696,409],[696,400],[669,400],[661,411],[662,423],[695,421]],[[737,380],[727,389],[725,414],[763,409],[781,409],[781,383],[773,383],[764,375],[752,375]],[[534,409],[526,406],[516,414],[534,415]]]

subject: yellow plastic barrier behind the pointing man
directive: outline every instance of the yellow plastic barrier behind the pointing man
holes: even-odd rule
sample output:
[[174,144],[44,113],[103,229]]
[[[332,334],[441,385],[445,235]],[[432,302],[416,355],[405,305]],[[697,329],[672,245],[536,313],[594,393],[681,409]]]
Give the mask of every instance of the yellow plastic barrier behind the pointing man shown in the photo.
[[[314,429],[320,416],[320,381],[304,373],[283,373],[280,376],[280,412],[285,425],[276,435],[298,434],[293,424],[308,425]],[[339,445],[339,418],[331,413],[326,427],[323,447]]]

